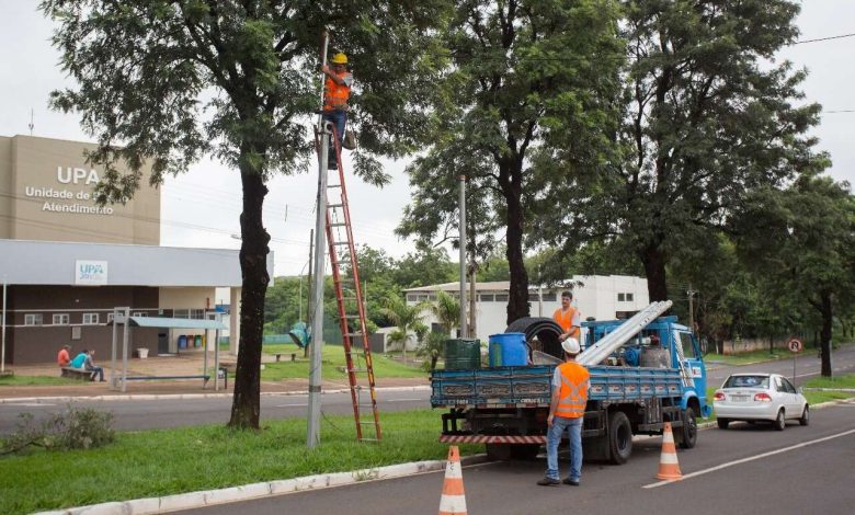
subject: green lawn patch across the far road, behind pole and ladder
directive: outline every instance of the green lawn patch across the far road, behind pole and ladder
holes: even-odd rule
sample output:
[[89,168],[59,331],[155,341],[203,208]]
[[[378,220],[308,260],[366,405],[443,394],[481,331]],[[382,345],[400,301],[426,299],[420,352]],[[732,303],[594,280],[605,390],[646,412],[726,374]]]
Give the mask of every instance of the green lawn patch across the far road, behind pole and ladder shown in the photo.
[[[265,381],[278,381],[282,379],[305,379],[309,374],[309,362],[303,358],[303,350],[292,343],[264,345],[263,352],[266,354],[290,354],[297,353],[298,362],[265,363],[261,370],[261,378]],[[285,357],[285,356],[283,356]],[[290,357],[285,357],[290,359]],[[376,378],[384,377],[428,377],[428,373],[411,365],[403,365],[384,354],[372,354],[374,364],[374,375]],[[324,345],[322,355],[321,375],[324,379],[346,379],[347,375],[339,369],[344,367],[344,348],[339,345]]]

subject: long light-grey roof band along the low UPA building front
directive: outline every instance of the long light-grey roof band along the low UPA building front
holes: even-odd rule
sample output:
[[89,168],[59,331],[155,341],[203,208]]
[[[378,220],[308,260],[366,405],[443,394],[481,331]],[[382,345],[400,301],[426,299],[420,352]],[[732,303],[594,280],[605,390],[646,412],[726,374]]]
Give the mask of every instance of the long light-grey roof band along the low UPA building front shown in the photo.
[[[105,263],[102,285],[235,287],[239,251],[179,247],[0,239],[0,281],[10,285],[81,285],[78,262]],[[273,253],[267,255],[273,276]]]

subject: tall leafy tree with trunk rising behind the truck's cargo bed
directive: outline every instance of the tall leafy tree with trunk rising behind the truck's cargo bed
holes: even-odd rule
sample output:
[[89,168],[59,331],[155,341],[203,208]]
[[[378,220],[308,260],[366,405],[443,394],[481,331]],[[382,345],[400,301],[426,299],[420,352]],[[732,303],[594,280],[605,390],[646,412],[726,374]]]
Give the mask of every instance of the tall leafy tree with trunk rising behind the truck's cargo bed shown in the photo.
[[616,19],[612,0],[456,2],[445,34],[452,69],[432,96],[434,142],[408,168],[415,194],[399,231],[425,240],[458,232],[457,178],[466,175],[475,230],[504,228],[509,322],[529,312],[526,197],[542,187],[533,153],[560,146],[596,160],[607,144],[592,128],[611,119],[623,59]]

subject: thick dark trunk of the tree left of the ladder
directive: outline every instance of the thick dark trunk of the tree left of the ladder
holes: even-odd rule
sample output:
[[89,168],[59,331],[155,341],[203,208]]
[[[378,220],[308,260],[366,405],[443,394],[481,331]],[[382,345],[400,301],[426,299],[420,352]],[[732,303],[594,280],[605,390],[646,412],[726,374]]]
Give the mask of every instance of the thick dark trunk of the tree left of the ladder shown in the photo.
[[[241,149],[244,156],[247,154]],[[244,161],[246,162],[246,161]],[[261,414],[261,342],[264,330],[264,294],[267,290],[267,253],[270,234],[261,213],[267,187],[261,173],[250,164],[240,170],[243,183],[243,211],[240,215],[242,242],[240,270],[243,290],[240,297],[240,346],[235,375],[235,396],[229,427],[259,428]],[[236,309],[236,307],[232,307]]]

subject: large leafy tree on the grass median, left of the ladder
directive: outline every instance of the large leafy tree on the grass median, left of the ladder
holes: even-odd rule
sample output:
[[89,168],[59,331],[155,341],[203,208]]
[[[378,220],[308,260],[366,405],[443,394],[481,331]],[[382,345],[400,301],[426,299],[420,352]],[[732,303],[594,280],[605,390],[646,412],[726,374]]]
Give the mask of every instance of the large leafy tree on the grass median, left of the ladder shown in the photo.
[[[373,153],[400,157],[425,126],[420,92],[432,82],[430,27],[444,0],[45,0],[54,44],[76,85],[53,104],[78,111],[98,139],[100,202],[130,197],[150,164],[152,184],[206,153],[242,183],[240,352],[230,426],[259,427],[261,336],[270,236],[265,183],[307,168],[319,107],[320,34],[349,54],[357,80],[351,119],[361,129],[356,173],[387,176]],[[127,163],[122,174],[116,162]],[[307,192],[307,194],[311,194]]]

